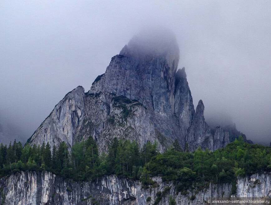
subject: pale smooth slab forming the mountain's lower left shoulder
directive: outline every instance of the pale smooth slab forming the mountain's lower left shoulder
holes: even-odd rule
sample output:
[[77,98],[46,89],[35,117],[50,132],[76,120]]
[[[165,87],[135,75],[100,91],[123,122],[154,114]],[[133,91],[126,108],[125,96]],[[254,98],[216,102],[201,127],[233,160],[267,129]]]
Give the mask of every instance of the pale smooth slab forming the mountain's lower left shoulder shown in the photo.
[[65,141],[71,146],[84,112],[84,95],[84,88],[81,86],[67,93],[35,131],[35,137],[28,142],[40,144],[49,141],[51,145],[58,145]]

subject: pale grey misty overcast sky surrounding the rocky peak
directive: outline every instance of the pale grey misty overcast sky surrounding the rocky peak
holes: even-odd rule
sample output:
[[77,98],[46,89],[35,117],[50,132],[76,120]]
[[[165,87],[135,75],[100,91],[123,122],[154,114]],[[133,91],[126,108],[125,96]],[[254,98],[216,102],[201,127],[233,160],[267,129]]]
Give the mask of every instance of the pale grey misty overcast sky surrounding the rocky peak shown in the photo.
[[271,1],[0,1],[0,142],[29,138],[88,91],[142,27],[176,35],[195,107],[271,141]]

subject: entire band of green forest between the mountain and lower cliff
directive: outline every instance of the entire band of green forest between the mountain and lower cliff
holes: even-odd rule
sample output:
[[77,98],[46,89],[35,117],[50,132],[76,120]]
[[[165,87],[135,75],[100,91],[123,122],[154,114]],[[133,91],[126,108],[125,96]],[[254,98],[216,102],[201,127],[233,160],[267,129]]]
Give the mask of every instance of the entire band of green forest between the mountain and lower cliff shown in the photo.
[[208,183],[232,183],[235,193],[237,176],[271,170],[271,147],[250,145],[240,136],[225,148],[210,152],[200,147],[193,153],[183,150],[177,140],[163,154],[157,143],[147,142],[142,149],[135,141],[114,138],[108,154],[99,155],[93,137],[75,143],[69,151],[65,142],[58,147],[49,143],[32,147],[20,142],[0,146],[0,177],[19,170],[50,171],[73,181],[94,180],[116,174],[140,180],[142,188],[155,186],[152,176],[174,181],[177,190],[204,188]]

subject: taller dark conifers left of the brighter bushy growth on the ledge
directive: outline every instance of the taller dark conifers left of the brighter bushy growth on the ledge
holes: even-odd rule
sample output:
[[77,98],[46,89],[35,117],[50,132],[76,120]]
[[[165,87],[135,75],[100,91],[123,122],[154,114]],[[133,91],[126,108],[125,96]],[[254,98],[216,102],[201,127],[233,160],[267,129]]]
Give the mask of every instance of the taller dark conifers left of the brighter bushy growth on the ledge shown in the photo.
[[93,180],[104,174],[139,179],[142,167],[158,154],[157,143],[147,142],[140,150],[135,141],[114,138],[108,154],[99,155],[96,141],[90,136],[70,149],[63,141],[51,149],[49,143],[24,147],[21,142],[0,145],[0,177],[19,170],[50,171],[64,179]]

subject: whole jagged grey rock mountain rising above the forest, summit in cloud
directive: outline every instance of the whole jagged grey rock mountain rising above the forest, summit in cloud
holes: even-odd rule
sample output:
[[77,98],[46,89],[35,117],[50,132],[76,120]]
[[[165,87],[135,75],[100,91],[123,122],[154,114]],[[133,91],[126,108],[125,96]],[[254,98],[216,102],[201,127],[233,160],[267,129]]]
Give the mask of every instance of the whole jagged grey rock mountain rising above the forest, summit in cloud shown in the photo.
[[65,141],[71,147],[91,135],[100,152],[114,137],[135,140],[140,147],[157,141],[163,152],[176,138],[183,148],[188,142],[191,151],[233,141],[238,131],[212,131],[207,125],[202,101],[195,112],[185,69],[177,71],[175,37],[164,35],[132,38],[87,93],[78,86],[56,105],[28,143],[49,141],[52,147]]

